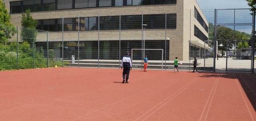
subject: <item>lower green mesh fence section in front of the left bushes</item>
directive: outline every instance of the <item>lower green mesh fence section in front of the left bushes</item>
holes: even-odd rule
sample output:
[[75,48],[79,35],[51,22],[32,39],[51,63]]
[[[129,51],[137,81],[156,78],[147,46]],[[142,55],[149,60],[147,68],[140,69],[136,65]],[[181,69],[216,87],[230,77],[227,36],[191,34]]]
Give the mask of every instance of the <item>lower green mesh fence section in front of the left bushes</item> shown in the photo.
[[48,42],[48,31],[6,25],[0,31],[0,70],[62,66],[55,60],[59,52]]

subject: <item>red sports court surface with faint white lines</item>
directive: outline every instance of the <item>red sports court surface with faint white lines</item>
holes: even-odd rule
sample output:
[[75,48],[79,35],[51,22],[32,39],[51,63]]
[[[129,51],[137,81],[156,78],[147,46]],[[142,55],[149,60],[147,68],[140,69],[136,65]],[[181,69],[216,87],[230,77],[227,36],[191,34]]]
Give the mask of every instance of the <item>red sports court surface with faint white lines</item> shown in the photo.
[[0,121],[256,121],[256,75],[43,68],[0,72]]

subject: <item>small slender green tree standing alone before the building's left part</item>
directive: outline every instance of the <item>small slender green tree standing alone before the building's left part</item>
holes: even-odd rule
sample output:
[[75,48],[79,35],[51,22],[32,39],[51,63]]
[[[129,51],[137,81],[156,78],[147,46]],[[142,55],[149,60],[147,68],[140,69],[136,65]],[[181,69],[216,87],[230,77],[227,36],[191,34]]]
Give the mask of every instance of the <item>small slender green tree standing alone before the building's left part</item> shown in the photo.
[[28,43],[33,43],[33,41],[36,41],[36,26],[37,26],[37,20],[34,20],[30,14],[30,9],[27,9],[25,13],[22,13],[22,19],[21,19],[21,38],[22,41],[27,41]]

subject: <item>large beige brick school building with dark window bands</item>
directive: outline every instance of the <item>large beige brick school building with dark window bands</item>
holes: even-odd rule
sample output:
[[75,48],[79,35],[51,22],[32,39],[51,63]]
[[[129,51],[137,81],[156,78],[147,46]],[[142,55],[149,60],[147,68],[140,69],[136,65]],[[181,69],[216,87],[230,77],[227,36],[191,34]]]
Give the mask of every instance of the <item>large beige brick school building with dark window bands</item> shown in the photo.
[[[98,59],[100,47],[101,59],[118,60],[119,41],[121,52],[164,49],[166,60],[188,60],[190,52],[202,58],[204,49],[211,49],[204,43],[208,22],[196,0],[5,0],[5,5],[18,27],[29,8],[38,20],[36,29],[49,31],[48,41],[60,51],[64,46],[66,59],[71,51],[77,54],[78,34],[80,59]],[[45,41],[36,38],[36,43]]]

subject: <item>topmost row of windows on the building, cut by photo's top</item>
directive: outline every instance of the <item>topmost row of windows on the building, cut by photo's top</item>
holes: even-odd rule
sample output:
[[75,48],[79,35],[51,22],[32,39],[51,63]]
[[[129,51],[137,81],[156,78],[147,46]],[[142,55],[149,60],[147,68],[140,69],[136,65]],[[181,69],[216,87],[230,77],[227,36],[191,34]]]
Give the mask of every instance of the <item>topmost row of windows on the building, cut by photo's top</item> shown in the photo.
[[92,8],[106,6],[132,6],[176,4],[176,0],[22,0],[10,2],[10,13],[62,10],[72,8]]

